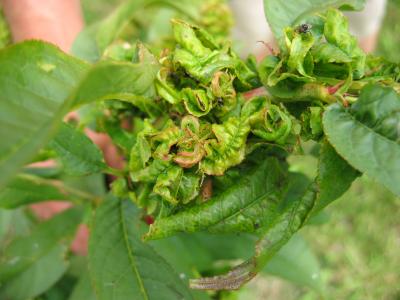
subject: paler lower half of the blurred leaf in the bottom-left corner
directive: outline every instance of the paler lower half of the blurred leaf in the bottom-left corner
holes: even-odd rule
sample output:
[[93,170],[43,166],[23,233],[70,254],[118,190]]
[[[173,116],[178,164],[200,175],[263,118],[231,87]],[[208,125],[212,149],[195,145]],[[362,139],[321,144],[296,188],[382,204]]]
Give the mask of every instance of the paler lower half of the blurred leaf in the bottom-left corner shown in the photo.
[[26,270],[2,283],[0,298],[26,300],[48,290],[68,268],[67,251],[67,245],[57,245]]

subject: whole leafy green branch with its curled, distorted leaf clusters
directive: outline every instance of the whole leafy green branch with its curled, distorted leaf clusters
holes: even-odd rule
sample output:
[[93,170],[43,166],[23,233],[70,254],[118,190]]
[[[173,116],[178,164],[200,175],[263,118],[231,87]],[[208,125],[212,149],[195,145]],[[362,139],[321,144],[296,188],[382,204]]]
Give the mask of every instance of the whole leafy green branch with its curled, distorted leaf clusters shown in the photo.
[[[365,54],[339,10],[363,1],[265,1],[279,52],[261,62],[233,50],[223,1],[176,2],[124,3],[81,33],[80,58],[40,41],[1,50],[0,207],[57,199],[75,208],[7,243],[0,296],[51,287],[78,224],[89,223],[90,279],[70,299],[88,280],[97,299],[207,299],[189,286],[237,289],[282,253],[293,257],[282,247],[360,174],[400,196],[400,66]],[[80,121],[63,122],[77,109]],[[84,127],[110,136],[122,170]],[[318,149],[312,180],[287,161],[305,141]],[[47,159],[57,167],[26,167]],[[71,183],[99,173],[115,177],[108,195]],[[228,242],[226,259],[244,262],[199,276],[213,274],[224,257],[210,253]],[[188,284],[174,267],[197,278]]]

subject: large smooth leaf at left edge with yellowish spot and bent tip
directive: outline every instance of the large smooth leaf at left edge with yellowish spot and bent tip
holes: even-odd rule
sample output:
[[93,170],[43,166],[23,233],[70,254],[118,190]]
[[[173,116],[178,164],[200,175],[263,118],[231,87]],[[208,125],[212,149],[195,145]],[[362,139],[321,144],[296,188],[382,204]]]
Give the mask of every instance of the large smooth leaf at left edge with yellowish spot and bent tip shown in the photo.
[[[105,62],[93,67],[79,83],[88,69],[85,63],[36,41],[4,49],[0,63],[0,125],[4,129],[0,134],[0,185],[49,139],[71,104],[76,107],[106,99],[134,102],[139,96],[152,96],[158,68],[151,61]],[[143,108],[142,98],[140,103]]]

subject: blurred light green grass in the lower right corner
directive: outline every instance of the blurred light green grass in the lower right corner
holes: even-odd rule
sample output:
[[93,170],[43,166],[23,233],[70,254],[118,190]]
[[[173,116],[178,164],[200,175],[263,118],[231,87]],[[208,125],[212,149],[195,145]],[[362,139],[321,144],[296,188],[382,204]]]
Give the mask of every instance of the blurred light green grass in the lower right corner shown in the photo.
[[400,299],[400,199],[366,177],[304,235],[316,251],[331,299]]

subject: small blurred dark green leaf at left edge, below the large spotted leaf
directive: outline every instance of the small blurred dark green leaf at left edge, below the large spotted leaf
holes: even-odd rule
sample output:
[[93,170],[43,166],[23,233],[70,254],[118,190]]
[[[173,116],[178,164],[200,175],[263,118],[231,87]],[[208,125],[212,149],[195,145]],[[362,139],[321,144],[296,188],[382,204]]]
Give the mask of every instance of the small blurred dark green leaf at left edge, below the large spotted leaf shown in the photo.
[[35,176],[13,179],[0,190],[0,207],[10,209],[46,200],[68,200],[60,187],[35,179]]

